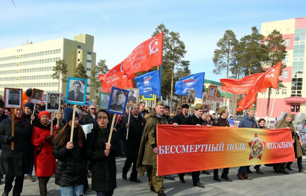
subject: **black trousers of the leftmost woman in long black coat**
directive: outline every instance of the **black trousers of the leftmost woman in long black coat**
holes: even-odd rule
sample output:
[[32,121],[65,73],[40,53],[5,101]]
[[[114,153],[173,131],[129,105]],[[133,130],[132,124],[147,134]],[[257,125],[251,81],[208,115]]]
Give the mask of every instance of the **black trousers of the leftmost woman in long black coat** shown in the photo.
[[[9,191],[13,188],[13,181],[15,176],[5,176],[5,185],[4,185],[4,193],[9,193]],[[20,196],[22,193],[22,187],[23,187],[23,176],[16,176],[15,178],[15,185],[13,188],[13,196]]]

